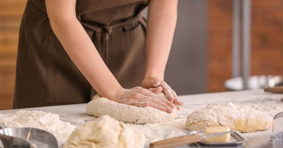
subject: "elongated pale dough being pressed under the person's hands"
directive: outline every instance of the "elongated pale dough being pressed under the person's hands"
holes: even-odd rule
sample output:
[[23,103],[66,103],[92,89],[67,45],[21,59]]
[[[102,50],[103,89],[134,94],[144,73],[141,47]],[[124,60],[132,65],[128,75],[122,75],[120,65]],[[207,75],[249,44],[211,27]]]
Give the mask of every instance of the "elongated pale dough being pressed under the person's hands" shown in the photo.
[[[158,95],[168,100],[164,93]],[[177,107],[169,114],[152,107],[136,107],[117,103],[100,97],[98,94],[93,97],[92,101],[87,103],[86,111],[89,115],[100,117],[107,114],[116,120],[137,124],[170,121],[178,114]]]

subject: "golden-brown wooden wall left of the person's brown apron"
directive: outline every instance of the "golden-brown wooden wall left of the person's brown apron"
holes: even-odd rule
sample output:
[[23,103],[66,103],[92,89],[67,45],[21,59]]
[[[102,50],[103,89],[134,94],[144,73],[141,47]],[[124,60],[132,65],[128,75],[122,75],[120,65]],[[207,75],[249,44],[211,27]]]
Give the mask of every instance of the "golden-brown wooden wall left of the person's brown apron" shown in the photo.
[[18,34],[26,2],[0,1],[0,110],[12,108]]

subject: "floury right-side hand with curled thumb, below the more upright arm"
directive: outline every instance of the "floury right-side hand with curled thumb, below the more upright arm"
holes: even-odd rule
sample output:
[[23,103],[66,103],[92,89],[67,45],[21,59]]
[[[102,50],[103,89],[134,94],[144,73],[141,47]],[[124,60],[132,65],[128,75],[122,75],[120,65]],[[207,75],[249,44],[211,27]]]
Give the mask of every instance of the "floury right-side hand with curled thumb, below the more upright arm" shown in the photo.
[[[171,87],[165,82],[162,81],[160,78],[151,77],[149,79],[144,79],[141,83],[143,88],[155,88],[155,87],[162,87],[162,92],[167,96],[170,101],[173,101],[176,105],[182,106],[184,102],[180,101],[176,92],[171,89]],[[177,107],[178,110],[180,109]]]

